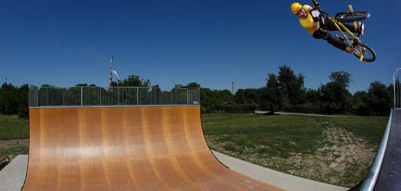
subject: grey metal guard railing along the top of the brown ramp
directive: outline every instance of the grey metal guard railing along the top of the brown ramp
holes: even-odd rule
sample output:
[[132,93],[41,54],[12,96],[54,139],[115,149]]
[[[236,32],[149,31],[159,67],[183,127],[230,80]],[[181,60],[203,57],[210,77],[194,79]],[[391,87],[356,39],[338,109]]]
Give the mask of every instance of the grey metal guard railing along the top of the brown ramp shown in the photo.
[[199,105],[199,88],[42,87],[30,85],[29,106]]

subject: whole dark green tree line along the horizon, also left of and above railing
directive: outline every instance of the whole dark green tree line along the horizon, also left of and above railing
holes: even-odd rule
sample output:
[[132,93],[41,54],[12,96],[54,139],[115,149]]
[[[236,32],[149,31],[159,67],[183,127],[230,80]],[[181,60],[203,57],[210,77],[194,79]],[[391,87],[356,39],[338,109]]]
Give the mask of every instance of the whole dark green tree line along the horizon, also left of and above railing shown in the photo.
[[[321,84],[317,90],[304,87],[305,76],[294,74],[287,65],[279,67],[278,74],[269,73],[266,85],[261,88],[239,89],[235,94],[229,90],[211,90],[192,82],[183,88],[200,88],[202,113],[253,113],[255,110],[296,113],[388,115],[393,103],[393,85],[380,81],[370,83],[366,91],[349,92],[352,75],[348,72],[331,72],[330,81]],[[76,86],[96,86],[80,83]],[[146,87],[149,79],[136,75],[123,81],[113,82],[114,87]],[[53,87],[44,84],[42,87]],[[3,83],[0,88],[0,113],[28,117],[29,85],[17,87]]]

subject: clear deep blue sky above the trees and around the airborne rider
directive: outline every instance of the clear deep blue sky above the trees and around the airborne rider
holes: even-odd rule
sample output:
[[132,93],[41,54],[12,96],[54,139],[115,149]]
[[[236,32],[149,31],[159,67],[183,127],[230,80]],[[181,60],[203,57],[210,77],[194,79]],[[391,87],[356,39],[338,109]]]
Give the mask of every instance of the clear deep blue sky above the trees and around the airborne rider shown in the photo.
[[[299,1],[302,4],[310,1]],[[305,88],[333,71],[353,75],[349,90],[392,82],[401,67],[401,1],[320,1],[331,15],[369,11],[361,40],[377,52],[360,62],[315,40],[292,15],[293,1],[0,1],[0,82],[106,86],[109,60],[121,78],[153,85],[197,82],[223,90],[259,88],[288,65]]]

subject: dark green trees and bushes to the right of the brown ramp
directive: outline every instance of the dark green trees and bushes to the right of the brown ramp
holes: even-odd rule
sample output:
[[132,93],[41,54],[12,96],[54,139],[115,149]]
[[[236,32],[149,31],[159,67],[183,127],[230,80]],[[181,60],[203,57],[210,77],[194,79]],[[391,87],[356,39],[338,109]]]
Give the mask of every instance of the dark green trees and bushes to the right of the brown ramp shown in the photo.
[[[202,88],[202,106],[206,113],[216,112],[216,104],[251,105],[258,110],[271,112],[388,115],[393,106],[393,85],[381,81],[370,83],[367,91],[349,92],[352,75],[348,72],[331,72],[330,81],[313,90],[304,87],[305,76],[294,74],[287,65],[279,67],[278,74],[270,73],[261,88],[240,89],[234,95],[228,90]],[[222,107],[220,107],[222,108]],[[218,112],[218,111],[217,111]],[[224,111],[223,111],[224,112]]]

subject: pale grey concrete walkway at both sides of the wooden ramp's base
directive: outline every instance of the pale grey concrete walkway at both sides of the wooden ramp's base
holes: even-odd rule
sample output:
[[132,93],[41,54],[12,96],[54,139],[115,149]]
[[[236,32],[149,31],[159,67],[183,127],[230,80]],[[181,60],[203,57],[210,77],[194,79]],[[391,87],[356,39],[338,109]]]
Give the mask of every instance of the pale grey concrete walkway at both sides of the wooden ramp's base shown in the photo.
[[[259,181],[275,185],[279,188],[284,188],[286,190],[348,190],[347,188],[342,188],[340,186],[319,183],[305,178],[277,172],[265,167],[260,167],[258,165],[253,165],[216,151],[213,151],[213,154],[216,158],[218,158],[218,160],[220,160],[221,163],[236,172],[245,174],[246,176],[250,176]],[[27,155],[20,155],[11,160],[11,163],[9,163],[0,171],[0,190],[21,190],[27,174],[27,165]]]

